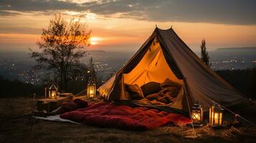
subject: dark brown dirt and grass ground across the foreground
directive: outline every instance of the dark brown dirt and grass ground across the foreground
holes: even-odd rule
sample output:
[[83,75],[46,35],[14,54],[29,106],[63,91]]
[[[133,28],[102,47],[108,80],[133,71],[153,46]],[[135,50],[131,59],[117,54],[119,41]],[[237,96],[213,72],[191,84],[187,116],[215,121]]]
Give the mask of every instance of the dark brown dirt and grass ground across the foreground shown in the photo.
[[[249,124],[223,129],[200,127],[196,128],[199,137],[189,139],[185,136],[190,127],[125,131],[34,119],[33,109],[33,99],[0,99],[0,142],[256,142],[256,127]],[[241,113],[255,123],[255,110],[253,104]]]

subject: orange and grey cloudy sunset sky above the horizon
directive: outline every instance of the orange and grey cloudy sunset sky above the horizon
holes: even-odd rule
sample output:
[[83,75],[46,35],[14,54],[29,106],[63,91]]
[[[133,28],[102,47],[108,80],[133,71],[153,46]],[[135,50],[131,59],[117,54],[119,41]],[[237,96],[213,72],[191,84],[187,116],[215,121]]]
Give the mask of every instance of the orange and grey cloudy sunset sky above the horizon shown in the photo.
[[194,51],[202,39],[209,50],[256,46],[255,7],[254,0],[1,0],[0,49],[37,49],[42,29],[57,13],[87,23],[88,50],[136,51],[156,24],[172,25]]

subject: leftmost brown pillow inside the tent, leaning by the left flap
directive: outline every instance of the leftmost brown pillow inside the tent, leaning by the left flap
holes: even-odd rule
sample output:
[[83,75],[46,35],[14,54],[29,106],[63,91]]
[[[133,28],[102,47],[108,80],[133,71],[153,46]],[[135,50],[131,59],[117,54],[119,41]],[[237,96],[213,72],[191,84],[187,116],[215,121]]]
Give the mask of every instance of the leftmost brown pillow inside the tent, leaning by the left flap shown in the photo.
[[132,100],[139,100],[144,98],[143,92],[137,84],[125,84],[125,89],[127,92],[129,92]]

